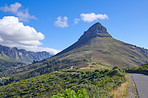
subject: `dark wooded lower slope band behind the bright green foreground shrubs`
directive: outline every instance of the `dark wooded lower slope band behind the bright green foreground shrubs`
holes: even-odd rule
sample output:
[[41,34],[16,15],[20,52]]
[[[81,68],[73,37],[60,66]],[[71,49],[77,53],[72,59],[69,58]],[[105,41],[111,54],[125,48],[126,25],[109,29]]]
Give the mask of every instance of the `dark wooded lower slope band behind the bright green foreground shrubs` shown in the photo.
[[[43,61],[44,62],[44,61]],[[83,60],[51,60],[49,62],[44,62],[42,66],[38,66],[38,63],[34,62],[32,65],[23,66],[13,71],[9,71],[7,73],[0,74],[0,78],[2,77],[3,81],[0,82],[0,86],[7,85],[11,82],[17,82],[19,80],[39,76],[42,74],[50,73],[53,71],[58,71],[64,68],[70,68],[70,66],[74,66],[76,69],[81,67],[85,67],[87,65],[87,61]],[[83,65],[82,65],[83,64]]]

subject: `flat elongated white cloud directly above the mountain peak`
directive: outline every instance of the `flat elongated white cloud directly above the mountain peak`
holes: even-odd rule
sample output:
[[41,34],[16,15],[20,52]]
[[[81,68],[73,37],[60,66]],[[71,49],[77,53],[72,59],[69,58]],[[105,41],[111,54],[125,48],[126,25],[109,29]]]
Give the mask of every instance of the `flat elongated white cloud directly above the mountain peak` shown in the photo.
[[89,14],[82,13],[80,17],[84,22],[93,22],[97,19],[108,19],[108,16],[106,14],[95,14],[95,13],[89,13]]

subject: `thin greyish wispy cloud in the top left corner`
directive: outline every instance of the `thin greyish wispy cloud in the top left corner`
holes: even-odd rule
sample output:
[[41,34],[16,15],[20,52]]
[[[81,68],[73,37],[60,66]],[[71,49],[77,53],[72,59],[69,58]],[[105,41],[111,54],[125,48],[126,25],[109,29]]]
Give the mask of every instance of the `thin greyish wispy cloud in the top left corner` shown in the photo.
[[11,12],[19,17],[19,20],[28,21],[29,19],[37,19],[35,16],[32,16],[28,13],[28,9],[21,9],[22,4],[16,2],[14,4],[10,4],[10,6],[5,5],[4,7],[0,7],[0,10],[3,12]]

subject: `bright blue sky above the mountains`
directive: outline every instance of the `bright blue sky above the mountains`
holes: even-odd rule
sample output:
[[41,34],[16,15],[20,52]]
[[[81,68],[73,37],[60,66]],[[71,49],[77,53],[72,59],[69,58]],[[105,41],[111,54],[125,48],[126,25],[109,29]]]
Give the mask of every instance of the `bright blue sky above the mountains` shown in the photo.
[[[10,5],[15,5],[16,2],[19,6],[17,11],[10,8]],[[147,5],[147,0],[0,0],[0,19],[4,20],[6,16],[14,16],[24,26],[28,25],[36,30],[32,44],[29,41],[24,42],[28,37],[20,35],[26,39],[24,38],[22,43],[16,44],[16,46],[22,44],[18,46],[19,48],[23,48],[23,45],[32,45],[63,50],[76,42],[83,32],[96,22],[104,25],[114,38],[148,48]],[[6,10],[4,7],[8,9]],[[86,15],[92,13],[93,19],[91,17],[90,20],[87,19],[89,17]],[[59,21],[56,24],[57,18]],[[10,17],[7,19],[10,20]],[[77,24],[74,23],[75,19],[78,20]],[[60,22],[62,23],[60,24]],[[4,25],[2,24],[2,26]],[[3,33],[2,30],[0,32]],[[23,32],[25,33],[25,29]],[[37,34],[39,32],[41,34]],[[18,33],[15,35],[19,37]],[[2,37],[6,41],[5,43],[0,41],[0,44],[6,45],[9,37],[7,38],[6,34]],[[11,41],[17,42],[19,39]],[[15,46],[15,44],[11,44],[13,43],[9,43],[9,46]],[[26,47],[25,49],[29,49]]]

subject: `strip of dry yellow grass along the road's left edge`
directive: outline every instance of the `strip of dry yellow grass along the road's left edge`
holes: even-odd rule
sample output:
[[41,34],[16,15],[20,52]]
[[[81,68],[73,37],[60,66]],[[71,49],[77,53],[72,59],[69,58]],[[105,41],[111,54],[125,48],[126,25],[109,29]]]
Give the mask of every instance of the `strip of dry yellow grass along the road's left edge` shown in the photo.
[[126,76],[126,82],[111,91],[111,98],[125,98],[129,87],[129,77]]

